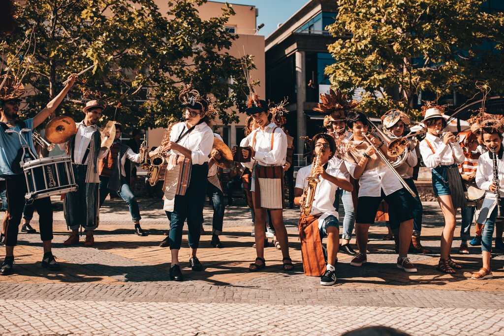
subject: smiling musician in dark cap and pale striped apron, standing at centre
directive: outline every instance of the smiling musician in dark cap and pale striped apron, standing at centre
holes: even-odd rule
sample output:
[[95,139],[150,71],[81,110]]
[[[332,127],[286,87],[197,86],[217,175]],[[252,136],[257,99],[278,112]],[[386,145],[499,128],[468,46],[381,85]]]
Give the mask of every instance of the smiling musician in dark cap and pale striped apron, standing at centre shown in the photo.
[[[249,98],[245,113],[251,115],[258,126],[248,136],[250,140],[248,148],[251,151],[251,159],[255,162],[251,173],[250,191],[256,214],[254,226],[257,253],[256,261],[249,265],[248,270],[257,272],[266,267],[264,225],[269,210],[282,250],[282,268],[284,271],[291,271],[294,265],[289,255],[287,230],[283,223],[283,166],[287,156],[287,137],[284,131],[272,122],[273,115],[266,101],[259,100],[257,95]],[[242,155],[246,159],[249,153],[242,150]]]

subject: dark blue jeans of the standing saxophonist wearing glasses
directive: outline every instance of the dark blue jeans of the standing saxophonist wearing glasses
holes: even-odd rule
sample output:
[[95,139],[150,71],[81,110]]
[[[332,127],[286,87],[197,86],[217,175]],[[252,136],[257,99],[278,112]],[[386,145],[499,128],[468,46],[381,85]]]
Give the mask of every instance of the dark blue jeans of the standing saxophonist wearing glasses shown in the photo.
[[208,164],[193,165],[191,168],[191,180],[185,195],[175,195],[175,205],[170,222],[170,250],[180,249],[182,244],[182,229],[185,219],[187,219],[187,240],[189,246],[198,248],[200,246],[200,226],[203,217],[203,206],[205,205],[205,193],[208,183]]

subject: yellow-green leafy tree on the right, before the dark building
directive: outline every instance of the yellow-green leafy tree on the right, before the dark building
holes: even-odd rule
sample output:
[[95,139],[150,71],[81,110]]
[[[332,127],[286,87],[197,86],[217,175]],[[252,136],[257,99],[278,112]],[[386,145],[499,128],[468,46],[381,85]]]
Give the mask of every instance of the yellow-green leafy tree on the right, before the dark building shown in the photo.
[[477,79],[503,92],[503,76],[490,77],[486,67],[501,63],[504,16],[482,12],[481,4],[339,0],[336,22],[328,26],[337,38],[329,45],[336,62],[326,74],[336,87],[364,89],[361,106],[376,114],[392,107],[418,113],[413,99],[420,91],[472,96]]

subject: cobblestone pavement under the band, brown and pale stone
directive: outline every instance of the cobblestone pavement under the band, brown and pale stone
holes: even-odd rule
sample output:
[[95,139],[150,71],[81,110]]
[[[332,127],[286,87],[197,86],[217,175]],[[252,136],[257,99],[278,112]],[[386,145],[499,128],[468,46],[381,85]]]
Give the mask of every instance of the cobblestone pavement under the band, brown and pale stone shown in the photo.
[[[424,204],[422,230],[422,243],[433,254],[410,255],[418,273],[395,266],[394,243],[382,240],[387,229],[377,223],[370,230],[368,263],[352,267],[351,257],[340,253],[338,282],[325,287],[302,274],[297,210],[285,211],[295,272],[281,271],[282,256],[274,247],[266,248],[264,272],[248,272],[254,237],[249,214],[239,206],[226,209],[225,248],[211,247],[211,237],[202,236],[198,256],[205,270],[193,273],[182,263],[186,281],[171,282],[169,250],[158,246],[168,226],[161,202],[139,202],[149,236],[135,236],[128,208],[109,200],[96,243],[87,248],[62,245],[68,232],[61,202],[53,198],[53,253],[63,268],[59,273],[42,269],[40,237],[20,234],[16,272],[0,278],[0,334],[341,334],[366,325],[414,335],[504,334],[504,257],[494,255],[493,279],[471,280],[481,266],[481,249],[459,255],[455,238],[452,257],[463,263],[463,272],[438,273],[442,217],[436,203]],[[210,232],[209,207],[205,219]],[[188,248],[180,255],[181,261],[188,259]]]

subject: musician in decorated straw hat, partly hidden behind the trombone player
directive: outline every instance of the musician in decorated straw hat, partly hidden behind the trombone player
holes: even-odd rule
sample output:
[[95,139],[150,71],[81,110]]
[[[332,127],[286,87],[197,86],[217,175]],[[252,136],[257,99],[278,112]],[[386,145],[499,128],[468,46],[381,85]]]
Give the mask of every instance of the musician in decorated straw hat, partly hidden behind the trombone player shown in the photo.
[[[385,113],[382,117],[384,130],[389,133],[391,139],[402,138],[404,134],[404,129],[411,124],[411,119],[406,113],[392,109]],[[413,235],[411,236],[411,244],[409,252],[416,253],[431,253],[432,251],[423,247],[420,242],[420,235],[422,231],[422,201],[418,196],[418,190],[416,189],[415,182],[413,181],[413,168],[418,163],[418,157],[416,155],[415,148],[418,145],[416,138],[409,142],[408,156],[405,162],[396,167],[397,172],[401,175],[403,180],[409,185],[409,187],[415,192],[416,196],[413,197],[411,202],[411,207],[413,210]],[[390,218],[390,226],[394,236],[399,234],[399,222],[393,216]]]

